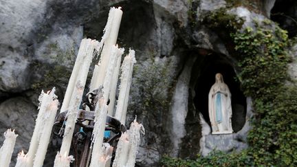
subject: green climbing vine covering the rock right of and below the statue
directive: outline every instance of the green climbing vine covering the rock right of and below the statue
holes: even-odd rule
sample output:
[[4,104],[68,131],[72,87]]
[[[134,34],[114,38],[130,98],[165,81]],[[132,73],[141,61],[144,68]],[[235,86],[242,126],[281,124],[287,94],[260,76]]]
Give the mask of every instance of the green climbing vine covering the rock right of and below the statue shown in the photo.
[[198,155],[195,160],[164,156],[161,164],[296,166],[297,86],[287,74],[287,65],[290,63],[287,32],[270,21],[255,22],[254,28],[229,32],[234,45],[232,54],[238,60],[237,78],[245,96],[253,99],[255,116],[248,134],[249,148],[241,153],[213,152],[206,157]]

